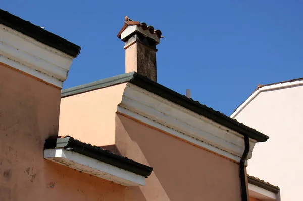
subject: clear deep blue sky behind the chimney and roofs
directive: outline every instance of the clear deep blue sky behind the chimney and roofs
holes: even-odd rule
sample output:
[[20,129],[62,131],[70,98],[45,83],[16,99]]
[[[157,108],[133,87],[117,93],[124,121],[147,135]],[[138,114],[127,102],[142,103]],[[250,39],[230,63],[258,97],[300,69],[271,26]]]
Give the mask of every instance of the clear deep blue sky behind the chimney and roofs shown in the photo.
[[124,73],[124,16],[165,36],[158,82],[227,115],[259,83],[303,77],[303,2],[16,1],[1,8],[82,47],[64,88]]

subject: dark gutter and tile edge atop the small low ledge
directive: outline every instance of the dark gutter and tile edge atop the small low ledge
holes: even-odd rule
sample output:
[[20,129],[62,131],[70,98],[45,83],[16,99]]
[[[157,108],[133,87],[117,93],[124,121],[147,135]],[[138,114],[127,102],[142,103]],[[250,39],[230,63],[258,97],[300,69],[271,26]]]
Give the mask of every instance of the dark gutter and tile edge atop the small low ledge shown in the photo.
[[50,137],[46,139],[44,143],[44,149],[54,148],[64,148],[66,150],[71,150],[73,152],[99,160],[100,162],[110,164],[112,166],[133,172],[144,177],[148,177],[153,171],[153,168],[149,166],[140,164],[134,160],[117,155],[108,150],[101,149],[100,147],[80,142],[79,140],[75,140],[70,136]]

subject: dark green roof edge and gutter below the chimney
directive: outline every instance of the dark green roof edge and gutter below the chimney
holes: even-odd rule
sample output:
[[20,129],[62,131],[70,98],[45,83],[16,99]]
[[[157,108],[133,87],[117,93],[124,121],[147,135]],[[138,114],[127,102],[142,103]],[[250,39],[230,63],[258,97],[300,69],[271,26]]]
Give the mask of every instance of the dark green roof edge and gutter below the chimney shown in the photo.
[[234,120],[224,115],[223,113],[220,113],[219,111],[215,111],[212,108],[207,107],[206,105],[200,104],[198,101],[194,101],[191,98],[187,98],[185,95],[181,95],[163,85],[160,85],[159,83],[151,81],[147,77],[142,76],[136,72],[130,72],[62,90],[61,98],[125,82],[129,82],[138,87],[141,87],[151,93],[154,93],[199,115],[205,116],[206,118],[213,120],[214,122],[221,124],[229,129],[232,129],[242,135],[248,135],[249,138],[255,139],[257,142],[265,142],[269,138],[268,136],[260,133],[259,131],[245,126],[244,124],[237,122],[237,120]]

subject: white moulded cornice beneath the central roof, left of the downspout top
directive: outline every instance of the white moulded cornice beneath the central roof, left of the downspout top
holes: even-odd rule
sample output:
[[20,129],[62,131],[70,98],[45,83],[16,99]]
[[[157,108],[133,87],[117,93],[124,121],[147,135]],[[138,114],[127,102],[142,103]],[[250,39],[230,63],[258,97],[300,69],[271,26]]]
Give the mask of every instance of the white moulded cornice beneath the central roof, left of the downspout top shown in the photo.
[[[244,139],[218,123],[128,83],[118,112],[222,156],[240,161]],[[250,139],[252,156],[255,140]]]

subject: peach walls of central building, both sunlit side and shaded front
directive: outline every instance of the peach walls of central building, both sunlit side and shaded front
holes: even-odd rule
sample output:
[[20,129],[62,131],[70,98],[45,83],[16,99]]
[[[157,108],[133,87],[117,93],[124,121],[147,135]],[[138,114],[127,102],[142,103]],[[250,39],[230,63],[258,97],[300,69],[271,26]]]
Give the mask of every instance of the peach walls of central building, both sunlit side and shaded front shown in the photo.
[[[125,84],[62,98],[60,135],[154,167],[143,187],[125,187],[123,200],[240,200],[239,165],[116,114]],[[112,150],[113,151],[113,150]]]

